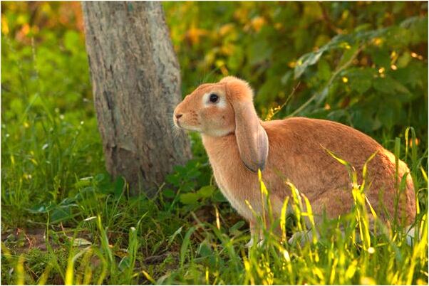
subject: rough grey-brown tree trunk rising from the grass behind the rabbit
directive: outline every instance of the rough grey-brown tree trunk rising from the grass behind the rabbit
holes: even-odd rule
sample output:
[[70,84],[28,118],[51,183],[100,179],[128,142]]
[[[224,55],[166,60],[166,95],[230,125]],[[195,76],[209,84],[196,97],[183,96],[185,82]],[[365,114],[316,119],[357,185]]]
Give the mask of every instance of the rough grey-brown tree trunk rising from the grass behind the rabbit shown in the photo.
[[174,134],[180,68],[160,2],[83,1],[86,49],[105,164],[136,194],[154,194],[190,159]]

